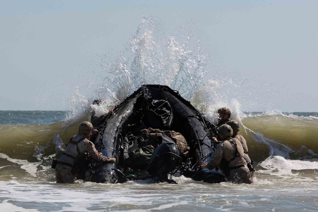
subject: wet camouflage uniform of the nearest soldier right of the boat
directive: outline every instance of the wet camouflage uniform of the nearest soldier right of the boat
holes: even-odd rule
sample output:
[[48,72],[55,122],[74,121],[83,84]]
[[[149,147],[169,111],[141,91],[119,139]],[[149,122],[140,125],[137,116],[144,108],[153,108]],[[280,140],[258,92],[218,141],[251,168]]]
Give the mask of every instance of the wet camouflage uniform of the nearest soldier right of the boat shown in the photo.
[[215,148],[207,167],[209,170],[214,169],[221,163],[222,159],[225,159],[230,167],[228,179],[238,177],[244,183],[252,183],[252,174],[243,155],[244,150],[241,142],[237,138],[227,137]]

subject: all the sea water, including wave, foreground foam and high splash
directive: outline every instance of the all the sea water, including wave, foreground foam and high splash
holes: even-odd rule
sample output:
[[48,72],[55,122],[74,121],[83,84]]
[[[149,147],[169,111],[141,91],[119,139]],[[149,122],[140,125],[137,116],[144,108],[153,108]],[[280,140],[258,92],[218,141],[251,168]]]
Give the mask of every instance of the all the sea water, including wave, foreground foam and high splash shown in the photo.
[[[218,70],[206,77],[209,60],[199,36],[191,21],[170,32],[160,20],[144,17],[125,51],[106,53],[96,79],[77,75],[69,111],[0,111],[1,211],[317,211],[317,112],[281,112],[266,99],[269,110],[243,112],[260,102],[246,100],[249,85]],[[218,108],[229,107],[255,162],[254,183],[209,184],[181,176],[174,178],[178,184],[56,184],[52,158],[79,123],[89,120],[91,110],[105,114],[142,84],[178,90],[212,123]],[[105,103],[92,105],[96,98]]]

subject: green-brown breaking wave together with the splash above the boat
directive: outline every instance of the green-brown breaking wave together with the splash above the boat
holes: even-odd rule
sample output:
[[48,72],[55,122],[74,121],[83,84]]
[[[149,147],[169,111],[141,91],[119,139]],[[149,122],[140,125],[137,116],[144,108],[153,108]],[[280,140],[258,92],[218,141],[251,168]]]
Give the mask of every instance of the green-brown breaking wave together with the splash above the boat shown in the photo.
[[[240,134],[247,140],[251,158],[262,169],[289,170],[297,164],[317,169],[317,115],[242,112],[241,105],[246,108],[253,104],[242,101],[250,94],[246,80],[233,80],[219,70],[209,76],[211,56],[204,51],[199,35],[191,20],[167,30],[161,20],[144,17],[120,53],[105,54],[102,70],[91,81],[78,75],[69,102],[71,110],[64,121],[0,125],[1,178],[41,176],[54,180],[52,157],[77,133],[78,124],[89,120],[92,110],[97,116],[107,113],[142,84],[162,84],[178,90],[212,123],[217,121],[218,108],[229,107],[231,118],[241,125]],[[238,88],[243,91],[237,93]],[[97,98],[104,102],[92,105]]]

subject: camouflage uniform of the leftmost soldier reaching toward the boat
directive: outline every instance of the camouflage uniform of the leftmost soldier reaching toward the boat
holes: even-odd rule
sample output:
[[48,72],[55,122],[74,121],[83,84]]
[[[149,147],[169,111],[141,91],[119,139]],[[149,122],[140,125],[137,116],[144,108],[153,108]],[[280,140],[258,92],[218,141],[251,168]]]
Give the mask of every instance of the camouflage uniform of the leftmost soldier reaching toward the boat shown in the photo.
[[110,159],[98,152],[94,144],[87,139],[86,135],[77,134],[70,139],[66,150],[60,157],[55,167],[55,178],[57,183],[74,183],[76,181],[77,170],[72,173],[72,167],[77,165],[76,160],[84,157],[88,152],[97,162],[109,162]]

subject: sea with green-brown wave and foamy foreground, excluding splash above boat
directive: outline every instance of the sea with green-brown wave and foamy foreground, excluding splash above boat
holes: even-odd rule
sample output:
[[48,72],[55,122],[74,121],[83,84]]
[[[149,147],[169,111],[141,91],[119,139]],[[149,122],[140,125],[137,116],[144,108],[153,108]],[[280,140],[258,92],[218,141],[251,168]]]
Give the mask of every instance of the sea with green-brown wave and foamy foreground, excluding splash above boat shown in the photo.
[[[9,113],[15,115],[8,118]],[[76,133],[72,126],[64,126],[67,111],[0,114],[11,123],[0,125],[2,211],[316,211],[318,207],[315,113],[244,113],[246,132],[241,134],[257,170],[251,185],[209,184],[183,176],[174,178],[177,185],[153,180],[56,184],[50,168],[52,157]],[[57,114],[64,118],[56,120]],[[34,124],[39,119],[41,124]],[[297,132],[275,131],[277,125],[290,128],[290,123]]]

